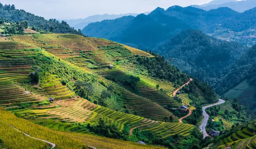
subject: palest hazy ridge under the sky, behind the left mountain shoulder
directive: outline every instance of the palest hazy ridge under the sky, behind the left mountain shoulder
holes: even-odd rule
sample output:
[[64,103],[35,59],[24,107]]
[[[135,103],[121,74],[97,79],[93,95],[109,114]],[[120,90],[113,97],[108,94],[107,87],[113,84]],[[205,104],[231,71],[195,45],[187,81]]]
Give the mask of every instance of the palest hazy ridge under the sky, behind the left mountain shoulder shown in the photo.
[[[145,12],[144,14],[149,14],[150,12]],[[92,22],[98,22],[103,20],[113,20],[124,16],[134,16],[136,17],[138,14],[136,13],[128,13],[128,14],[96,14],[84,19],[73,19],[73,20],[59,20],[67,22],[71,27],[74,27],[75,29],[83,29],[85,26],[87,26],[89,23]]]

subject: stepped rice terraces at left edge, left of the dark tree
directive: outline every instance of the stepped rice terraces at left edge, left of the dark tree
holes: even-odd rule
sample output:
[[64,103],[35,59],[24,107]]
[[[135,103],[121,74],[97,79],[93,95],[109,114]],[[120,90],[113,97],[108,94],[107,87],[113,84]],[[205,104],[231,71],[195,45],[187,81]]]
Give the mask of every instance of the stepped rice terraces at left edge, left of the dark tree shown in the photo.
[[39,49],[26,43],[0,42],[0,106],[10,107],[15,103],[40,100],[33,93],[25,93],[26,88],[16,83],[30,79],[28,75],[35,65],[30,56],[35,56],[36,51]]

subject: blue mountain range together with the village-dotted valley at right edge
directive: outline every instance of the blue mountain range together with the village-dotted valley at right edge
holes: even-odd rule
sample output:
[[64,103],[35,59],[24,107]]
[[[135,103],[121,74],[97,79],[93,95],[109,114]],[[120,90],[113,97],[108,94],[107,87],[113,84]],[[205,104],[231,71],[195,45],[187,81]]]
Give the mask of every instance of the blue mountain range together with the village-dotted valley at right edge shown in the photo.
[[[251,32],[244,33],[255,27],[255,9],[236,12],[223,7],[205,11],[194,7],[172,6],[166,11],[157,8],[148,15],[119,18],[117,20],[102,21],[89,24],[82,30],[83,34],[91,37],[107,38],[121,43],[138,47],[140,49],[154,48],[160,42],[173,37],[184,29],[200,29],[224,40],[240,41],[247,44],[242,36],[250,36]],[[113,30],[113,23],[118,20],[122,30]],[[150,22],[150,23],[149,23]],[[240,32],[239,34],[235,33]],[[144,36],[145,33],[147,36]],[[252,41],[250,41],[252,42]]]

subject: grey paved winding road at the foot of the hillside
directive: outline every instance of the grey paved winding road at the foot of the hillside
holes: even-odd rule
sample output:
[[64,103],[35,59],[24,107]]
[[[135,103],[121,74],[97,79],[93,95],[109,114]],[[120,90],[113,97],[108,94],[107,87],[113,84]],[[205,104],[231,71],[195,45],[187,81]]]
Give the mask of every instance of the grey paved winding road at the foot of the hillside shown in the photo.
[[208,136],[206,130],[205,130],[205,127],[207,125],[207,122],[209,120],[209,115],[205,112],[205,110],[208,108],[208,107],[212,107],[212,106],[216,106],[216,105],[219,105],[219,104],[223,104],[225,101],[222,100],[222,99],[219,99],[219,102],[216,103],[216,104],[209,104],[208,106],[204,106],[202,108],[203,110],[203,115],[204,115],[204,121],[202,122],[202,124],[200,125],[200,129],[201,131],[204,133],[204,138]]

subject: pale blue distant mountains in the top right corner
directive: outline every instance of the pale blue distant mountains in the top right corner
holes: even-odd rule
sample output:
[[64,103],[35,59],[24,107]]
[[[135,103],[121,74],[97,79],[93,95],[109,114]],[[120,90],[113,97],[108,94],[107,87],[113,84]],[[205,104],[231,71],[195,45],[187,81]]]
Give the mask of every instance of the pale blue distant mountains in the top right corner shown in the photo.
[[214,0],[204,5],[192,5],[192,7],[200,8],[204,10],[211,10],[220,7],[228,7],[238,12],[244,12],[246,10],[256,7],[256,0]]

